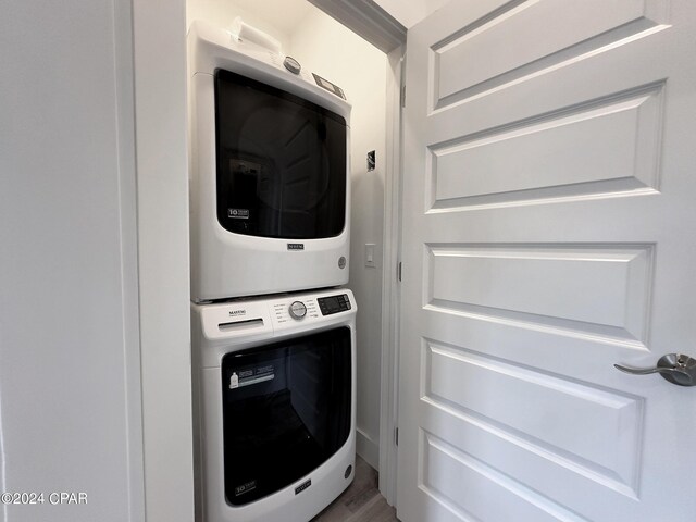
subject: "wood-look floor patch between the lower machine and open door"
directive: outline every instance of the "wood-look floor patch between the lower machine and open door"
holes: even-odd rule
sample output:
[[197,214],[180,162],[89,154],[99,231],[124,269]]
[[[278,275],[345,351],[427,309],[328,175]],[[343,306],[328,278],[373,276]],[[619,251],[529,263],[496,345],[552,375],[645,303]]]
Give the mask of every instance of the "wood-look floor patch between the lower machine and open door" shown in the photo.
[[377,472],[356,457],[352,484],[310,522],[398,522],[396,510],[377,488]]

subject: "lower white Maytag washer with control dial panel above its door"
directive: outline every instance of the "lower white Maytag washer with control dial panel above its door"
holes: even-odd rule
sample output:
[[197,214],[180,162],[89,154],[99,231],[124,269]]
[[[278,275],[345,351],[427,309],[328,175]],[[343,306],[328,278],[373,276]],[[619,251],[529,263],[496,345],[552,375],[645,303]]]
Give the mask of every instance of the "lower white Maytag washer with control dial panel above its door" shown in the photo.
[[353,478],[356,302],[191,304],[196,520],[307,522]]

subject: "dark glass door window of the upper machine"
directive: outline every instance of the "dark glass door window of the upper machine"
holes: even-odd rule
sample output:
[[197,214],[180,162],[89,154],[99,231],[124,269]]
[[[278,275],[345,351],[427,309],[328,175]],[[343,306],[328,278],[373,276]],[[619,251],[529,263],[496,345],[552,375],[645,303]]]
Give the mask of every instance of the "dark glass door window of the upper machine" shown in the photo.
[[215,73],[217,221],[250,236],[339,235],[346,216],[346,121],[228,71]]

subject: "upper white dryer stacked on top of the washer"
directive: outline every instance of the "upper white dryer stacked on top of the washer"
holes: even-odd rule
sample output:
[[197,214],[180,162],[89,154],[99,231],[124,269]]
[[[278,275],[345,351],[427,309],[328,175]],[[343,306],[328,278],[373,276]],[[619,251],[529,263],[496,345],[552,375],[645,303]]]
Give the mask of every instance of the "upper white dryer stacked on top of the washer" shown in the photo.
[[239,27],[188,34],[194,302],[348,282],[350,105]]

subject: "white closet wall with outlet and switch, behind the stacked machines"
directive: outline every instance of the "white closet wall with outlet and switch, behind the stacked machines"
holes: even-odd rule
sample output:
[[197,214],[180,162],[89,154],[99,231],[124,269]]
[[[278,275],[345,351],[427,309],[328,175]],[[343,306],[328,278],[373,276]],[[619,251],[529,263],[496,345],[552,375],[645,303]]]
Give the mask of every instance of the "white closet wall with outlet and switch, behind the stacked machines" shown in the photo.
[[[358,301],[358,452],[378,469],[387,59],[319,10],[293,33],[290,54],[302,67],[339,85],[352,104],[348,286]],[[376,151],[377,166],[368,172],[371,150]],[[364,265],[365,244],[376,245],[376,268]]]

